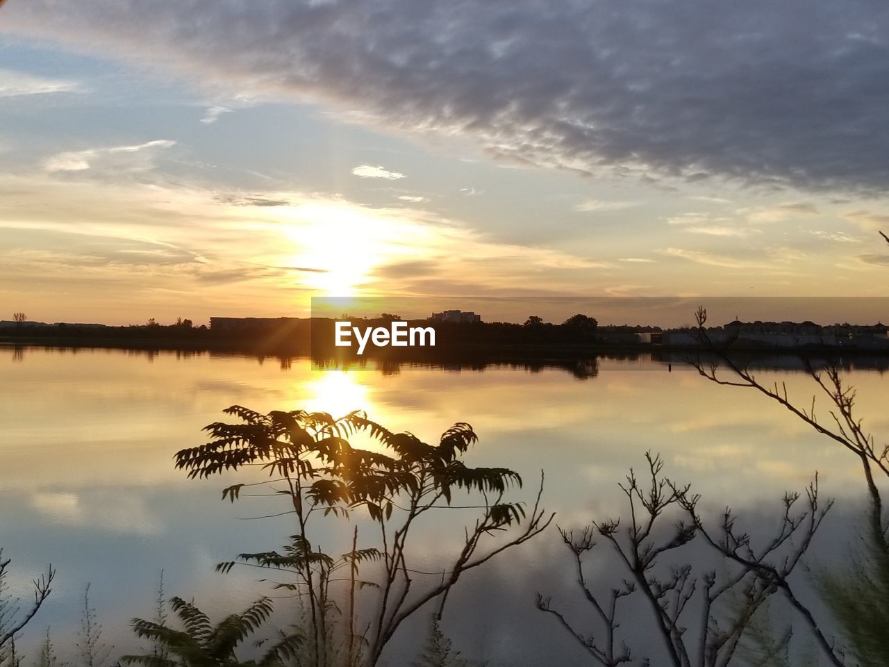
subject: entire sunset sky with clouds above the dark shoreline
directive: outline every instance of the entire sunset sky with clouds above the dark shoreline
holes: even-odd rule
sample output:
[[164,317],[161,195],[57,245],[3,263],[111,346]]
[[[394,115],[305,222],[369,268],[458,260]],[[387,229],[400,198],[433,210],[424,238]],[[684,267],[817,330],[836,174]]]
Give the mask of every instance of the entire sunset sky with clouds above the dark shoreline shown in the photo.
[[885,296],[887,35],[873,0],[8,0],[0,319]]

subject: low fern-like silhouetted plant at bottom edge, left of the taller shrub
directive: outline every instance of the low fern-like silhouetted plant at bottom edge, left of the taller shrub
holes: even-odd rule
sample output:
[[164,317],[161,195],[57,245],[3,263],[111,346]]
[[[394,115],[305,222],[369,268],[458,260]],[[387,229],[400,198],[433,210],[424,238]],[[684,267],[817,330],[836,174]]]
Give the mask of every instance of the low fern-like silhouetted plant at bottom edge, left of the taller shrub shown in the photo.
[[299,631],[279,633],[274,641],[260,640],[257,647],[268,647],[259,659],[242,660],[237,649],[268,621],[272,603],[262,598],[240,614],[228,615],[213,625],[210,618],[194,604],[172,598],[170,607],[178,616],[182,630],[140,618],[132,620],[132,629],[143,639],[164,647],[164,655],[124,655],[121,662],[147,667],[284,667],[297,655],[303,636]]

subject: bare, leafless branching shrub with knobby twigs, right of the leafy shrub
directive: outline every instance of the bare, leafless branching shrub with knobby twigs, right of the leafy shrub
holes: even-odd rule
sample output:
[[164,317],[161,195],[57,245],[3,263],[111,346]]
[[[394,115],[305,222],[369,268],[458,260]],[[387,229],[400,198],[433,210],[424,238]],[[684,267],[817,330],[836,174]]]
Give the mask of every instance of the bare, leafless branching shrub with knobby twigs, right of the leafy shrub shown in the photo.
[[[736,660],[736,651],[751,619],[776,591],[789,591],[788,577],[797,567],[821,526],[831,503],[820,507],[816,481],[806,489],[806,506],[797,510],[799,494],[786,494],[779,526],[771,539],[755,545],[749,534],[736,527],[732,510],[725,510],[717,529],[702,521],[697,505],[700,497],[689,486],[679,486],[662,474],[660,456],[645,454],[645,478],[629,471],[621,490],[627,498],[628,524],[621,518],[593,522],[581,531],[559,528],[571,552],[576,581],[592,607],[596,624],[583,631],[552,603],[537,595],[537,607],[557,621],[590,657],[605,667],[621,664],[652,664],[634,655],[629,638],[619,635],[621,609],[626,598],[641,596],[650,607],[653,631],[661,637],[666,661],[673,667],[724,667]],[[669,529],[663,524],[671,522]],[[588,581],[586,556],[605,540],[628,578],[603,594]],[[679,550],[695,539],[715,549],[719,569],[695,568],[691,562],[665,567],[664,558],[677,558]],[[796,542],[794,542],[796,540]],[[589,623],[582,623],[589,627]],[[638,626],[638,620],[634,623]],[[691,632],[689,632],[691,630]]]

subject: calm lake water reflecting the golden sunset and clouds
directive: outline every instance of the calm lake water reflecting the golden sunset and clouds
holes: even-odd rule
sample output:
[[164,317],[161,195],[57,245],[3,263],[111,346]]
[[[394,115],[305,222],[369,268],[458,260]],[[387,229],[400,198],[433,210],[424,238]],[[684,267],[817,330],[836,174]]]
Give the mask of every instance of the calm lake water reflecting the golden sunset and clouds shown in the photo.
[[[305,360],[283,367],[274,359],[0,348],[0,369],[0,546],[13,559],[18,594],[29,595],[29,580],[47,563],[58,568],[50,603],[29,634],[52,626],[60,645],[76,631],[88,582],[104,637],[118,652],[138,646],[127,623],[153,614],[162,569],[168,595],[194,597],[210,609],[268,592],[254,572],[218,575],[213,566],[280,544],[289,534],[285,518],[246,520],[280,510],[279,501],[220,502],[228,478],[188,480],[172,465],[172,454],[202,444],[202,427],[233,404],[262,412],[363,408],[388,428],[427,441],[453,422],[470,422],[480,442],[468,462],[519,471],[525,499],[545,470],[544,502],[562,526],[619,513],[616,484],[630,466],[644,464],[646,450],[661,452],[670,477],[693,483],[716,509],[773,506],[785,489],[805,486],[814,470],[824,493],[839,501],[852,502],[861,489],[853,459],[780,406],[749,390],[717,387],[687,366],[668,370],[645,359],[600,359],[596,376],[577,379],[557,368],[403,367],[384,374],[318,371]],[[811,402],[813,382],[805,374],[764,370],[759,377],[787,382],[792,397]],[[859,390],[865,426],[885,434],[885,374],[853,369],[847,377]],[[821,412],[829,419],[826,406]],[[451,532],[459,523],[436,520],[422,535],[420,563],[434,563],[460,537]],[[469,625],[485,632],[466,639],[464,653],[533,658],[546,650],[539,638],[523,647],[507,631],[515,619],[470,614],[460,604],[473,596],[495,607],[508,602],[541,623],[533,616],[533,586],[543,576],[555,576],[555,584],[570,579],[558,542],[553,530],[508,564],[468,578],[453,632]],[[571,649],[568,655],[577,657]],[[536,660],[547,662],[545,655]]]

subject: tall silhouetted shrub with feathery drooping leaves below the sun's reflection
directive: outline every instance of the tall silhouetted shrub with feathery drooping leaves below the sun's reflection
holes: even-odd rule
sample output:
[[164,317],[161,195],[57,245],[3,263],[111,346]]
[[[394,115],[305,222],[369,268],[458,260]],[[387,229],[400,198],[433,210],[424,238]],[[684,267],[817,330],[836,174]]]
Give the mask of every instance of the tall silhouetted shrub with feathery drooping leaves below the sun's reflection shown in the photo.
[[[348,645],[349,664],[375,665],[388,641],[404,619],[432,600],[441,614],[448,592],[468,570],[483,565],[497,554],[539,534],[552,516],[540,509],[542,492],[537,494],[530,513],[523,503],[504,502],[510,486],[521,486],[521,478],[505,468],[469,468],[461,457],[477,437],[469,424],[457,423],[428,445],[411,433],[394,433],[353,412],[340,419],[326,413],[271,412],[259,414],[241,406],[225,411],[243,423],[216,422],[209,425],[212,441],[204,446],[181,450],[177,467],[189,477],[204,478],[223,470],[240,470],[260,464],[271,477],[267,482],[289,499],[295,519],[295,534],[283,552],[241,554],[240,562],[289,572],[292,582],[281,583],[308,607],[308,647],[318,667],[332,664],[329,637],[336,623],[329,586],[331,575],[348,569],[348,630],[341,643]],[[349,436],[362,432],[383,447],[385,453],[353,447]],[[223,499],[234,502],[246,484],[228,486]],[[481,498],[479,516],[465,531],[460,552],[436,583],[422,589],[414,585],[420,573],[409,565],[408,535],[414,522],[429,510],[453,506],[455,492],[475,492]],[[340,557],[316,550],[311,526],[318,518],[347,518],[363,510],[377,526],[380,542],[369,548],[353,548]],[[517,534],[484,547],[487,538],[510,527]],[[357,572],[369,561],[379,564],[380,573],[372,581],[361,581]],[[228,571],[235,562],[221,563]],[[367,620],[356,623],[355,593],[372,591]],[[341,623],[340,615],[340,623]],[[357,629],[357,630],[356,630]]]

